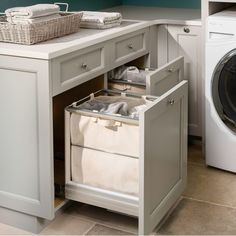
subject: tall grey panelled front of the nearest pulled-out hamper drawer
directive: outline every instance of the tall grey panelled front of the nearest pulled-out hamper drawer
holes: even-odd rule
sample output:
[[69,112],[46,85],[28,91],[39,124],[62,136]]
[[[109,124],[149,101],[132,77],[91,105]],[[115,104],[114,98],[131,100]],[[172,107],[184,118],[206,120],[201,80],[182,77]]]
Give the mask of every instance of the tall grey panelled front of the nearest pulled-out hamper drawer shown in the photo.
[[187,92],[180,82],[140,116],[140,235],[151,233],[186,185]]

